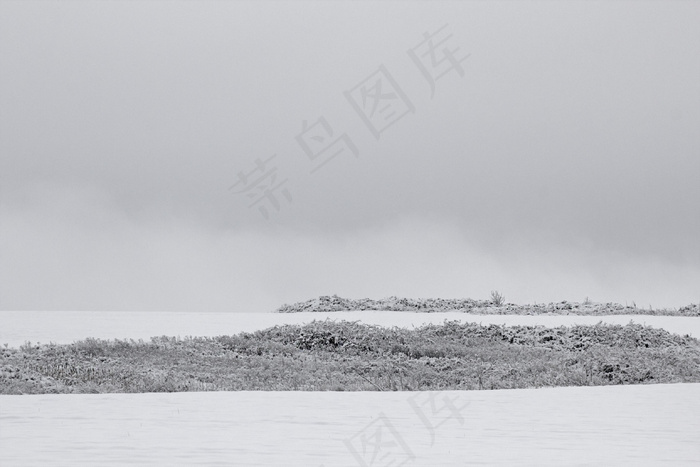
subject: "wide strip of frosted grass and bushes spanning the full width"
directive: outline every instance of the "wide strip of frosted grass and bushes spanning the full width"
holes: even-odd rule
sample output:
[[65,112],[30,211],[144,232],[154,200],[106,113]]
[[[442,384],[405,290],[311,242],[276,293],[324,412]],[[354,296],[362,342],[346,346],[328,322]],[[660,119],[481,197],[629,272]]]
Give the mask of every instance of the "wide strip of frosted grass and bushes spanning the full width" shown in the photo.
[[638,324],[415,329],[314,321],[234,336],[0,352],[0,393],[418,391],[700,382],[700,341]]

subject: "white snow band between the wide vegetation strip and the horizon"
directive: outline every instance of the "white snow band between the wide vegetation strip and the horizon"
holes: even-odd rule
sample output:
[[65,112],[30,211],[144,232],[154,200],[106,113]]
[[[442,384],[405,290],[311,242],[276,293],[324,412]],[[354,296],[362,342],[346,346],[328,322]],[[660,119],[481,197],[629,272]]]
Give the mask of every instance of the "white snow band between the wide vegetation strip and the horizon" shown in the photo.
[[530,316],[470,315],[460,312],[407,313],[397,311],[348,311],[337,313],[172,313],[172,312],[90,312],[90,311],[3,311],[0,312],[0,345],[18,347],[33,343],[70,344],[86,337],[102,339],[148,339],[152,336],[220,336],[256,331],[275,324],[306,323],[313,320],[359,320],[382,326],[420,326],[459,320],[482,324],[542,324],[561,326],[604,323],[627,324],[630,320],[700,337],[700,318],[678,316]]

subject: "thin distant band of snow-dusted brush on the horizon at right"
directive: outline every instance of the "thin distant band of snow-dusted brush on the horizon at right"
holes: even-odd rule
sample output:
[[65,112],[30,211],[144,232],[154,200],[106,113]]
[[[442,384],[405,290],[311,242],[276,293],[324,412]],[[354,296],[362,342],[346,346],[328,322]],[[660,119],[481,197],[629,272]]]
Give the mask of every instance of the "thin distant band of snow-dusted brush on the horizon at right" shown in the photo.
[[513,303],[496,304],[491,300],[446,299],[446,298],[399,298],[389,297],[380,300],[370,298],[351,299],[337,295],[322,296],[295,303],[282,305],[278,313],[330,312],[330,311],[412,311],[435,313],[443,311],[461,311],[479,315],[664,315],[664,316],[700,316],[700,305],[692,304],[676,309],[637,308],[618,303],[577,303],[558,302],[548,304],[515,305]]

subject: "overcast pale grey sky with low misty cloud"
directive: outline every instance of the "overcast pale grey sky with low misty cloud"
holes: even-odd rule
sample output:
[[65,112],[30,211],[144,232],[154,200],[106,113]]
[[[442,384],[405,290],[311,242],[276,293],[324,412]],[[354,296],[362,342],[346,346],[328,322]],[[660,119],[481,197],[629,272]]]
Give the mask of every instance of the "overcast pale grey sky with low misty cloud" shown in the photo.
[[670,1],[4,1],[0,308],[698,302],[698,24]]

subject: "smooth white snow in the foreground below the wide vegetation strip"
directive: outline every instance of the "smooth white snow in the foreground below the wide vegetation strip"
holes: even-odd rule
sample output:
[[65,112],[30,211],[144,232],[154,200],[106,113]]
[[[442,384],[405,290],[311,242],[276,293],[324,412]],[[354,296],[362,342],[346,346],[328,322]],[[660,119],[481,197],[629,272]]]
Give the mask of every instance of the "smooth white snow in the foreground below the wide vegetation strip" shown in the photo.
[[0,396],[0,465],[698,465],[698,394],[700,384]]

